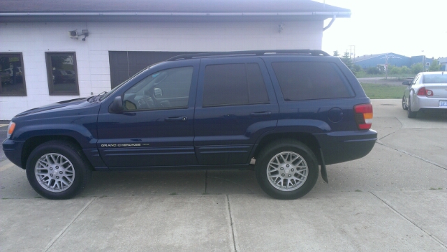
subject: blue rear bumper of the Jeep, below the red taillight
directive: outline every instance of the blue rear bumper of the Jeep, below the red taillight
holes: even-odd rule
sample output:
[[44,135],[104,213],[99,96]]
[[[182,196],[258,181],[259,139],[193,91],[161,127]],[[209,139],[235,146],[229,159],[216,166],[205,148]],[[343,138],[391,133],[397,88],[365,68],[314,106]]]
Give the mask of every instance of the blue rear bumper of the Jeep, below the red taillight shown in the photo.
[[337,131],[315,135],[326,165],[362,158],[369,154],[377,140],[377,132]]

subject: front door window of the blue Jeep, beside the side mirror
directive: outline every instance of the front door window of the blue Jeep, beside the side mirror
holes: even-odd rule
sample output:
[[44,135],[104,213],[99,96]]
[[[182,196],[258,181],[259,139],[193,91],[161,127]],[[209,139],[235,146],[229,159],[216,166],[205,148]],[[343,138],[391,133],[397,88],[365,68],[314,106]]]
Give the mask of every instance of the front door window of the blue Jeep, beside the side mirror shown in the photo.
[[171,68],[145,77],[124,93],[124,110],[187,108],[193,69]]

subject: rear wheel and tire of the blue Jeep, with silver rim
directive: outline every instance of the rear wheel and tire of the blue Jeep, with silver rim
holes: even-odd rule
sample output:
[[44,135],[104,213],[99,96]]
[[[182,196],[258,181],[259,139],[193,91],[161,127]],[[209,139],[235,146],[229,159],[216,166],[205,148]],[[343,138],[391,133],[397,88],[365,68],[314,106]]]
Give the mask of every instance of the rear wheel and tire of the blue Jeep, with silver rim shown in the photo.
[[[290,158],[297,158],[296,161],[291,162],[286,160],[288,158],[287,154],[290,155]],[[281,158],[282,161],[280,161]],[[278,163],[277,165],[274,162],[281,164]],[[270,163],[272,165],[269,165]],[[307,170],[302,168],[303,170],[299,173],[298,170],[293,169],[300,164],[307,166]],[[277,166],[276,168],[278,169],[273,166]],[[272,198],[294,200],[301,198],[314,188],[316,180],[318,179],[318,161],[316,160],[314,152],[302,142],[296,140],[278,140],[277,142],[268,144],[258,155],[255,171],[258,184],[265,193],[272,196]],[[276,177],[269,179],[268,172],[270,175]],[[288,179],[294,179],[295,184]],[[303,181],[297,182],[296,180],[299,179]],[[284,182],[291,185],[291,188],[284,188]]]

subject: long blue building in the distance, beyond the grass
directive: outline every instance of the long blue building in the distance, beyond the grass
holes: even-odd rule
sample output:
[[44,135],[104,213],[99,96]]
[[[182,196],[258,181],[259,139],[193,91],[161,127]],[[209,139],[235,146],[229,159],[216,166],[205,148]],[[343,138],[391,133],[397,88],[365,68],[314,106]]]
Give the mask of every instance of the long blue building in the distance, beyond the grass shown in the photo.
[[[388,58],[388,59],[387,59]],[[447,58],[444,58],[447,59]],[[432,64],[433,59],[425,57],[425,55],[406,57],[404,55],[395,54],[393,52],[383,53],[383,54],[370,54],[356,57],[353,59],[353,64],[361,66],[362,68],[385,66],[386,64],[392,66],[408,66],[411,67],[413,64],[421,63],[424,65],[425,71],[428,70],[430,64]],[[445,63],[444,63],[445,68]]]

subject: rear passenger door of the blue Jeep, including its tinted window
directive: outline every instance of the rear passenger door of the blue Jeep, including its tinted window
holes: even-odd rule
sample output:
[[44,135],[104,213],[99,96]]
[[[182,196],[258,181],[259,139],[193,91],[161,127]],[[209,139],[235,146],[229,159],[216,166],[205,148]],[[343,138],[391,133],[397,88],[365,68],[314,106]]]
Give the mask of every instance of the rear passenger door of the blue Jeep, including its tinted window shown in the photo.
[[277,125],[278,105],[256,57],[202,59],[194,117],[200,165],[249,163],[260,135]]

